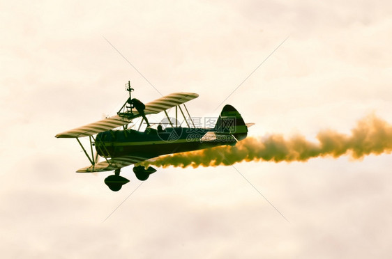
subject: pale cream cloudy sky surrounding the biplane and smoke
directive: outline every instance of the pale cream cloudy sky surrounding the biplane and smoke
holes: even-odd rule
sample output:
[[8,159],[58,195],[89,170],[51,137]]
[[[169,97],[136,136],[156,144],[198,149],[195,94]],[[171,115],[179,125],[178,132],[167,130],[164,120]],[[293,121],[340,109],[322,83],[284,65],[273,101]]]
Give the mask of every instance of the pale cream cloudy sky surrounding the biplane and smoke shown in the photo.
[[103,183],[110,173],[75,173],[89,164],[76,141],[54,138],[114,115],[128,80],[143,102],[198,93],[193,116],[232,104],[255,123],[249,136],[317,141],[369,115],[392,123],[391,1],[0,1],[0,10],[4,258],[391,255],[391,154],[158,168],[142,185],[129,166],[115,193]]

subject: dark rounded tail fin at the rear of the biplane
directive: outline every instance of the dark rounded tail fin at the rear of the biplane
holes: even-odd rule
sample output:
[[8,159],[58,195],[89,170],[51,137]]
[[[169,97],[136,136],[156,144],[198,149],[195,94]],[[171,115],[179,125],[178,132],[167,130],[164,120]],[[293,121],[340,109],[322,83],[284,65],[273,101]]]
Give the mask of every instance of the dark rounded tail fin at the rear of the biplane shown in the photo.
[[223,107],[213,130],[221,134],[232,134],[239,141],[248,134],[248,127],[241,114],[229,104]]

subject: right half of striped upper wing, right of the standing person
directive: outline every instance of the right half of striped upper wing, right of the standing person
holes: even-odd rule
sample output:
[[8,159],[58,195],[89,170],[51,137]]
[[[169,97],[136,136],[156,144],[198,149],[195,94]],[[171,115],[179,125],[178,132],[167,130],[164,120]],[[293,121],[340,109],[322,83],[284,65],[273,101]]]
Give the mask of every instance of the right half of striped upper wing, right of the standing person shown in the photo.
[[183,104],[190,100],[199,97],[197,93],[171,93],[164,97],[160,97],[159,99],[149,102],[146,104],[146,109],[144,113],[146,114],[154,114],[160,113],[161,111],[165,111],[169,108],[176,107],[177,105]]

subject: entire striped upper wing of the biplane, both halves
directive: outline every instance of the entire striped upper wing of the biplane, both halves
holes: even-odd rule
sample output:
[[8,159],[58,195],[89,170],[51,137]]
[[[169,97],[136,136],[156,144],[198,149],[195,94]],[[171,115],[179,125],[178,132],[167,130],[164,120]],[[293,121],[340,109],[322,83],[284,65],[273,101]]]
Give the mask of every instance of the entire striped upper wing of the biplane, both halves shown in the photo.
[[[166,109],[176,107],[179,104],[183,104],[197,97],[199,97],[197,93],[172,93],[146,104],[144,113],[160,113],[160,111],[165,111]],[[103,120],[97,121],[96,123],[90,123],[82,127],[77,127],[73,130],[56,134],[56,138],[79,138],[82,136],[91,136],[99,132],[105,132],[116,127],[127,125],[132,121],[133,118],[137,118],[139,116],[139,112],[137,112],[136,109],[133,109],[132,115],[129,113],[126,117],[116,115],[110,118],[105,118]]]

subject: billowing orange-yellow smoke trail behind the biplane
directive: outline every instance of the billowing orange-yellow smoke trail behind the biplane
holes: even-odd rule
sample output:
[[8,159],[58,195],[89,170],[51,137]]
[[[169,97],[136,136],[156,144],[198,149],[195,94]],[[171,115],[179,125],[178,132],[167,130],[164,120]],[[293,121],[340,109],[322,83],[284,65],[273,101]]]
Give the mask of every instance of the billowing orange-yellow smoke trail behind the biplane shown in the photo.
[[293,136],[285,139],[280,134],[248,137],[236,143],[236,146],[220,146],[165,155],[151,159],[144,166],[220,166],[239,162],[273,161],[273,162],[306,162],[312,157],[340,157],[351,155],[353,159],[361,159],[365,155],[390,153],[392,151],[392,126],[376,116],[368,116],[360,120],[350,135],[340,134],[333,130],[324,130],[317,134],[319,143],[307,141],[304,136]]

